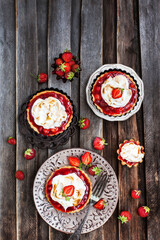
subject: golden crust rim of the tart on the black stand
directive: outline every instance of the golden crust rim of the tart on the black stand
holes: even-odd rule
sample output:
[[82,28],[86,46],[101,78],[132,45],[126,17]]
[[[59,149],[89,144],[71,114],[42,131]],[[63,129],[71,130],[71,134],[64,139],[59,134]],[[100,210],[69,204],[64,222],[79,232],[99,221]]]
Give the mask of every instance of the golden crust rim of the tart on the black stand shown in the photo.
[[[45,90],[45,91],[39,92],[39,93],[37,93],[36,95],[34,95],[34,96],[32,97],[32,99],[29,101],[29,104],[30,104],[37,96],[40,96],[40,95],[42,95],[42,94],[46,94],[46,93],[48,93],[48,92],[49,92],[49,93],[50,93],[50,92],[54,92],[54,93],[58,93],[58,94],[60,94],[60,95],[63,95],[63,97],[65,97],[65,98],[67,99],[67,101],[70,102],[70,100],[69,100],[64,94],[62,94],[62,93],[60,93],[60,92],[58,92],[58,91]],[[32,122],[31,122],[31,120],[30,120],[30,106],[29,106],[29,104],[28,104],[28,107],[27,107],[27,109],[26,109],[26,111],[27,111],[27,121],[28,121],[30,127],[31,127],[35,132],[37,132],[37,133],[39,133],[39,134],[42,134],[42,133],[40,133],[39,130],[32,124]],[[70,104],[71,104],[71,102],[70,102]],[[71,104],[71,106],[72,106],[72,104]],[[69,120],[68,120],[68,123],[65,125],[65,129],[62,130],[62,131],[58,131],[58,133],[53,133],[53,134],[50,133],[48,136],[55,136],[55,135],[58,135],[58,134],[64,132],[64,131],[69,127],[70,123],[72,122],[72,118],[73,118],[73,106],[72,106],[72,115],[70,116],[70,118],[69,118]],[[43,134],[43,135],[44,135],[44,134]],[[44,136],[46,136],[46,135],[44,135]]]

